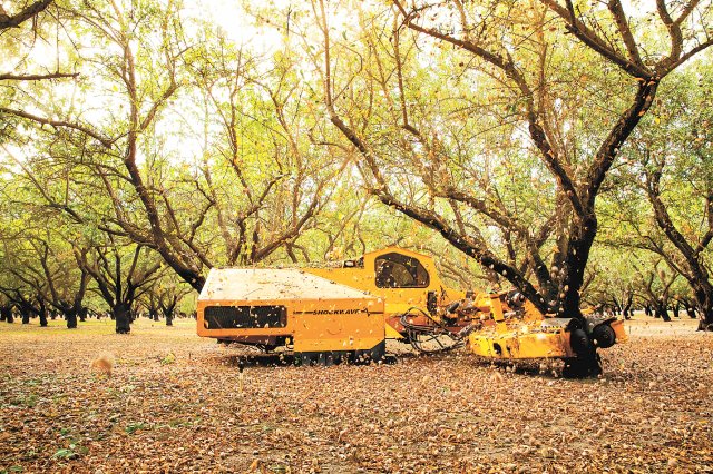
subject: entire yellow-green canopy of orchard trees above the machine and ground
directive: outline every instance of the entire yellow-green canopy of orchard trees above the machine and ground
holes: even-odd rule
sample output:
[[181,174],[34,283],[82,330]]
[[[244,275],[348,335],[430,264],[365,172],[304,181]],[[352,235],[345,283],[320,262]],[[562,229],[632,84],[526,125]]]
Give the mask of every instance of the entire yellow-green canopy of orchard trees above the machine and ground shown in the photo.
[[397,244],[546,313],[713,323],[710,0],[232,8],[0,9],[0,303],[124,320]]

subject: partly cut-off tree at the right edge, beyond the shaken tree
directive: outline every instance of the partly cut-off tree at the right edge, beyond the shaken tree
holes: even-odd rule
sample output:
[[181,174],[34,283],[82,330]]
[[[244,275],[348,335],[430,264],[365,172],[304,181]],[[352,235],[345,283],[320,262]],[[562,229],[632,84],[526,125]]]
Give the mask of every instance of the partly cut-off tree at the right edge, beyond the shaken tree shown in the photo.
[[[653,111],[652,127],[642,131],[626,150],[642,162],[624,176],[638,184],[648,225],[629,219],[641,248],[653,251],[670,269],[685,278],[701,319],[699,329],[713,324],[713,156],[710,111],[713,83],[709,67],[677,79],[675,88]],[[623,207],[624,205],[621,204]],[[690,306],[690,302],[683,300]]]

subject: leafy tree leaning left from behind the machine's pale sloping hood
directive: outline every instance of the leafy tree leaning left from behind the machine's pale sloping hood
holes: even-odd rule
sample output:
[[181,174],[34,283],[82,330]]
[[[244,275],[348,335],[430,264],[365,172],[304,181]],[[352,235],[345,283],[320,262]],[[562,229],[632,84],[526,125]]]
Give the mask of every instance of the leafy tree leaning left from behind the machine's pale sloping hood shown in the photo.
[[70,105],[62,96],[37,112],[0,111],[52,126],[20,137],[38,150],[23,179],[43,206],[155,250],[198,290],[208,268],[274,258],[314,225],[346,160],[313,147],[294,70],[257,68],[201,22],[189,37],[175,2],[70,12],[94,82],[80,81]]

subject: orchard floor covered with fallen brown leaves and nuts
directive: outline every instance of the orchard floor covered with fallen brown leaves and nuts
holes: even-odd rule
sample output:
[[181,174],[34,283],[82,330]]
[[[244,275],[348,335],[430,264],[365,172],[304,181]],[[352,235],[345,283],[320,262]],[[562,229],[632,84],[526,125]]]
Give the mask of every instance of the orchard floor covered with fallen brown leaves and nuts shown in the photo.
[[0,473],[713,472],[713,334],[627,325],[599,379],[453,353],[251,366],[240,393],[193,320],[0,323]]

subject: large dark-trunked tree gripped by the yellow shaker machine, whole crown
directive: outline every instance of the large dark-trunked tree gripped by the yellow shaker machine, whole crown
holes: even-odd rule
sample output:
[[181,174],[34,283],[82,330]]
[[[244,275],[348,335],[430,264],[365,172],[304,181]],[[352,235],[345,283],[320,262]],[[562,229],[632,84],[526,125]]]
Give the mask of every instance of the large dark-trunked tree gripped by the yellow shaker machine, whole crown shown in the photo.
[[315,1],[323,100],[374,196],[576,317],[597,197],[662,80],[711,45],[710,9],[394,1],[353,46]]

